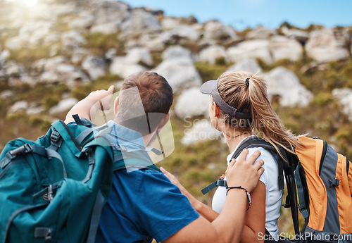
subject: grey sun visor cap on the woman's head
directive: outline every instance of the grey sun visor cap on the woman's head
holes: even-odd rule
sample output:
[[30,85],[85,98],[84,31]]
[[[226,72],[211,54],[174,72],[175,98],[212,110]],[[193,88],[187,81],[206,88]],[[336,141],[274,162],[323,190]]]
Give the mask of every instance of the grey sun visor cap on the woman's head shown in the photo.
[[218,80],[209,80],[203,83],[203,85],[201,85],[200,91],[203,94],[210,94],[213,97],[215,103],[222,109],[222,111],[225,111],[225,113],[229,114],[230,116],[234,116],[235,118],[239,119],[252,118],[251,112],[241,112],[237,110],[237,108],[227,104],[222,99],[218,90]]

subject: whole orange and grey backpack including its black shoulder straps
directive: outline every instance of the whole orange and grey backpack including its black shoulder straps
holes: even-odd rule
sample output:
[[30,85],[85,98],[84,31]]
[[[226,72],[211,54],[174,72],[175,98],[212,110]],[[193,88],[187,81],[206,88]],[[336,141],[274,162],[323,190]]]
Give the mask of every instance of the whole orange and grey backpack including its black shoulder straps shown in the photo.
[[[296,155],[279,147],[284,161],[272,144],[258,137],[248,137],[239,144],[232,158],[237,158],[243,149],[253,147],[263,147],[276,158],[279,189],[284,189],[284,178],[286,181],[288,195],[284,207],[291,208],[296,232],[294,242],[352,243],[351,162],[318,137],[300,137],[299,141],[303,146],[296,148]],[[226,187],[226,181],[219,179],[202,192],[206,194],[217,186]],[[305,218],[301,230],[298,208]],[[265,243],[290,242],[282,237],[274,239],[268,231],[265,234]]]

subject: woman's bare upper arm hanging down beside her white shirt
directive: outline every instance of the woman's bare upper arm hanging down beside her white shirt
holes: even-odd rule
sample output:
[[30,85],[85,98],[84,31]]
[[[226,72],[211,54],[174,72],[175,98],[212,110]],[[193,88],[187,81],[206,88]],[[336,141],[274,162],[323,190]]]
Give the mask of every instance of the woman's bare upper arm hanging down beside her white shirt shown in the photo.
[[241,243],[264,242],[264,239],[258,239],[258,234],[261,232],[265,235],[265,194],[265,184],[258,182],[256,189],[251,193],[253,203],[246,212],[246,222]]

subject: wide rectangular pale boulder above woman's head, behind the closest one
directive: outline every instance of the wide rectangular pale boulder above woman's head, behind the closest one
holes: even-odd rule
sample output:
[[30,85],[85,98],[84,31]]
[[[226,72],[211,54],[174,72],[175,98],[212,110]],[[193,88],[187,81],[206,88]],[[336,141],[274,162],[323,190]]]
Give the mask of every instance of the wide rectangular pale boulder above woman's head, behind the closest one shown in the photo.
[[253,39],[240,42],[227,49],[227,58],[230,63],[237,63],[246,59],[260,58],[265,63],[272,63],[268,39]]

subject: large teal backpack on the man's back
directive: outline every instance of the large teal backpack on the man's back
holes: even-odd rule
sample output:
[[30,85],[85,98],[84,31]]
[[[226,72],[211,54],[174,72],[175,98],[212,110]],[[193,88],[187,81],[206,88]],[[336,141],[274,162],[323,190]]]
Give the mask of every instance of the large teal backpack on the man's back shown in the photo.
[[[15,139],[0,155],[0,242],[94,242],[113,170],[127,163],[158,170],[145,150],[111,144],[111,127],[74,116],[32,142]],[[128,161],[122,151],[131,152]]]

